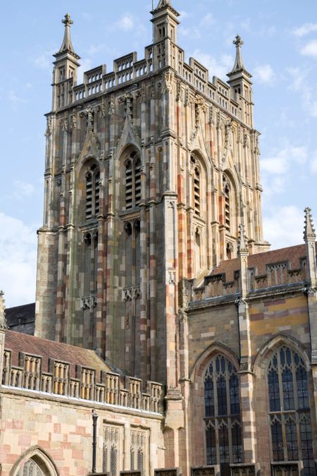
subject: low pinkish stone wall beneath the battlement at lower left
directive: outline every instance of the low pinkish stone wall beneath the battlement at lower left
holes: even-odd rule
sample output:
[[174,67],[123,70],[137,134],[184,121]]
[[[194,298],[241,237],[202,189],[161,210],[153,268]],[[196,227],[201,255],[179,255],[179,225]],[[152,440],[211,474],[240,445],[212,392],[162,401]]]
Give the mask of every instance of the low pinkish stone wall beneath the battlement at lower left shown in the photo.
[[[20,475],[23,464],[31,456],[39,468],[43,465],[45,475],[84,476],[92,472],[92,410],[98,415],[97,472],[109,470],[113,464],[110,438],[119,471],[130,470],[132,452],[137,465],[137,451],[142,452],[145,474],[154,474],[154,468],[163,465],[159,414],[114,405],[105,408],[98,403],[83,404],[54,396],[46,398],[34,391],[8,388],[0,390],[0,399],[2,476]],[[138,450],[135,441],[139,438],[142,443]],[[103,467],[103,462],[108,468]]]

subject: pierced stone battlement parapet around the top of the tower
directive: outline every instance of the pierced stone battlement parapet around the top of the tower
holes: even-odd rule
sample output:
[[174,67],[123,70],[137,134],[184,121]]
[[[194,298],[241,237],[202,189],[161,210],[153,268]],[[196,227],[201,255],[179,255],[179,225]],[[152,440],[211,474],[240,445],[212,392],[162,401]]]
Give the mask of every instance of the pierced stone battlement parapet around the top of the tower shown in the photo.
[[145,48],[144,59],[138,60],[137,53],[121,56],[113,61],[113,71],[107,73],[106,65],[97,66],[83,75],[83,83],[75,85],[73,78],[64,80],[58,87],[66,89],[63,101],[57,104],[57,109],[76,105],[78,102],[87,101],[92,97],[113,92],[123,85],[132,85],[137,80],[149,78],[155,73],[164,71],[171,66],[175,77],[185,80],[188,85],[203,94],[213,104],[227,111],[232,116],[244,123],[249,123],[247,116],[246,101],[241,94],[237,93],[228,83],[213,76],[209,81],[209,70],[194,58],[189,58],[189,64],[184,61],[184,51],[176,44],[171,43],[170,59],[166,59],[166,47],[164,42],[151,44]]

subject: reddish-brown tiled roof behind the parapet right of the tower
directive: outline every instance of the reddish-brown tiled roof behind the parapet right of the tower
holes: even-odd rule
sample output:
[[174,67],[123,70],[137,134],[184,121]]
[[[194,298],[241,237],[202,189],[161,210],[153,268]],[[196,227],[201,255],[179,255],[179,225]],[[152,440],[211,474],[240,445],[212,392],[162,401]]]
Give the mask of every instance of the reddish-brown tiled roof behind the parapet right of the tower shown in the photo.
[[[317,252],[317,242],[316,242]],[[280,248],[280,250],[266,251],[256,255],[249,255],[248,268],[255,268],[257,276],[266,274],[266,265],[279,262],[290,262],[290,269],[299,269],[301,267],[301,259],[306,257],[306,245],[290,246],[288,248]],[[234,271],[240,269],[240,260],[225,260],[213,269],[209,276],[214,274],[225,273],[225,281],[230,282],[234,279]]]

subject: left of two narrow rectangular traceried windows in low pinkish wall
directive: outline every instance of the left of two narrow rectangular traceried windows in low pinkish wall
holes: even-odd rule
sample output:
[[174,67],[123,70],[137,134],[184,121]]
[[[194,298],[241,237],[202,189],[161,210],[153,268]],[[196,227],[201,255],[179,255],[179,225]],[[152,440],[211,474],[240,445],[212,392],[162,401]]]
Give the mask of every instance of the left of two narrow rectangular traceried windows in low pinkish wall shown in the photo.
[[102,470],[111,476],[119,474],[120,460],[120,428],[104,426],[104,445],[102,454]]

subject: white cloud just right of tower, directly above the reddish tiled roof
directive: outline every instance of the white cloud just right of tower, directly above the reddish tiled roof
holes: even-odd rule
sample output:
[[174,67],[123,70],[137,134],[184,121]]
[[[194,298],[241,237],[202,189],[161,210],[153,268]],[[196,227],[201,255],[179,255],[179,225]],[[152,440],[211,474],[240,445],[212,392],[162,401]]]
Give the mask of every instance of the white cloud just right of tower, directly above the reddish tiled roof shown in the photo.
[[298,245],[303,242],[304,212],[293,205],[271,207],[263,216],[265,239],[272,249]]

